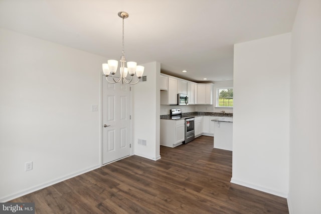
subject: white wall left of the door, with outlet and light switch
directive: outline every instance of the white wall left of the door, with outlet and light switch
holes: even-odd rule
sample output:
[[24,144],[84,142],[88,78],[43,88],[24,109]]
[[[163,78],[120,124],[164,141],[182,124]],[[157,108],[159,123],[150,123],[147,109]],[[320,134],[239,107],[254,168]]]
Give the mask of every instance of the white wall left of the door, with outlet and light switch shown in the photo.
[[103,61],[0,29],[0,201],[100,166]]

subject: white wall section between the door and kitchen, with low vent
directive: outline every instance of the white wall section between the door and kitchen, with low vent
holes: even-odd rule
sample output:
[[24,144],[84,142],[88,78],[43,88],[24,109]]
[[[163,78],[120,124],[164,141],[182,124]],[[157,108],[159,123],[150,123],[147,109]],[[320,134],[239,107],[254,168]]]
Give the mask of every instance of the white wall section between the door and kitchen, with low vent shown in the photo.
[[[145,67],[143,76],[147,77],[147,81],[133,87],[134,154],[157,160],[161,158],[159,151],[161,64],[151,62],[143,66]],[[146,140],[146,145],[138,144],[138,139]]]

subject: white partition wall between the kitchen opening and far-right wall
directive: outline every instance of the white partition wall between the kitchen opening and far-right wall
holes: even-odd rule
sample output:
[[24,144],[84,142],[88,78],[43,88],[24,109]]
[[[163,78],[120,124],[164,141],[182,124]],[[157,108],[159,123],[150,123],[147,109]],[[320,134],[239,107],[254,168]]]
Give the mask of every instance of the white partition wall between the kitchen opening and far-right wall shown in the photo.
[[286,197],[291,35],[234,46],[233,183]]

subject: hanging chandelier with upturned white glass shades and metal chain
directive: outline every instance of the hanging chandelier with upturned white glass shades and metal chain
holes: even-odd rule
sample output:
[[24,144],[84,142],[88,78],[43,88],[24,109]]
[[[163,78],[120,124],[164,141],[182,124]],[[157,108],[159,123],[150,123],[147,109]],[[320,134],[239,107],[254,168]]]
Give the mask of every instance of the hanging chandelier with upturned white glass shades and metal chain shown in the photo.
[[[144,73],[144,67],[137,65],[136,62],[127,62],[127,68],[125,67],[125,50],[124,50],[124,19],[128,18],[128,14],[126,12],[119,12],[118,16],[122,18],[122,52],[120,57],[120,68],[119,73],[120,76],[115,77],[114,75],[117,72],[118,67],[118,61],[117,60],[108,60],[108,63],[102,64],[102,70],[104,72],[104,75],[106,77],[107,82],[109,83],[119,83],[122,84],[128,83],[131,85],[137,84],[139,82],[139,79],[142,77],[142,74]],[[132,82],[132,77],[135,75],[138,78],[136,82]],[[127,75],[130,75],[130,79],[127,79]],[[112,77],[112,79],[109,81],[108,77]]]

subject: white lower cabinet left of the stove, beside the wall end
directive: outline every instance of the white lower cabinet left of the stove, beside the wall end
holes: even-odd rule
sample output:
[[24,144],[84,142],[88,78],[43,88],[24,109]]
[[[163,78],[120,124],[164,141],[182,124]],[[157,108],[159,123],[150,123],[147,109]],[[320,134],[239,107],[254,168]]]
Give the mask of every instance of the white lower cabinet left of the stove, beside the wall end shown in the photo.
[[185,140],[185,120],[161,119],[161,145],[176,147]]

